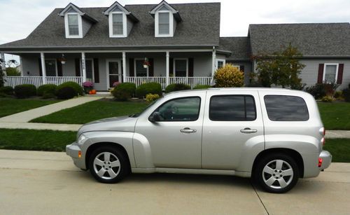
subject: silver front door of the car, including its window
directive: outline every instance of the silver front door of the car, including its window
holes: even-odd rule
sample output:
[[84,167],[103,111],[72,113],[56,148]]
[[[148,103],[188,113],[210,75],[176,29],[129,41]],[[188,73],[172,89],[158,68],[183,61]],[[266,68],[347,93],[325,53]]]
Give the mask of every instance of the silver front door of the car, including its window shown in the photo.
[[205,92],[170,97],[153,111],[158,121],[149,116],[137,121],[135,132],[148,139],[155,167],[201,167],[204,99]]

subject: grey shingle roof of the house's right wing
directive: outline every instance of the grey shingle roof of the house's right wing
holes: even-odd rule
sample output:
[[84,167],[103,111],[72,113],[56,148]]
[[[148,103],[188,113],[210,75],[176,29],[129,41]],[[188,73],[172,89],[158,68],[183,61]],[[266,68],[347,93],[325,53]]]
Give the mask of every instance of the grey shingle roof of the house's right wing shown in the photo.
[[252,55],[272,54],[291,43],[304,57],[350,56],[349,23],[249,25]]

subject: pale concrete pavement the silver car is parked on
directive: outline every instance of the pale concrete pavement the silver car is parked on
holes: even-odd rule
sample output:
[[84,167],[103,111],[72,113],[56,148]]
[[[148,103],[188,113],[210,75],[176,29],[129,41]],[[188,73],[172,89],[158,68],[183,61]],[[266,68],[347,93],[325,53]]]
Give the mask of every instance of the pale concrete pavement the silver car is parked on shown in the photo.
[[0,214],[349,214],[350,164],[333,163],[289,193],[249,179],[132,174],[97,183],[65,153],[0,150]]

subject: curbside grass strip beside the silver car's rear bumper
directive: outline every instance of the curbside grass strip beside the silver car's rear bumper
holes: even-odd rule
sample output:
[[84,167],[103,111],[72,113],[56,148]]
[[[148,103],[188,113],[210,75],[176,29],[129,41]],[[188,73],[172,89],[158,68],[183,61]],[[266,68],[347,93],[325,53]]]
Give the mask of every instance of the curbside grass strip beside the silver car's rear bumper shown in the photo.
[[332,154],[332,162],[350,162],[350,139],[326,139],[323,149]]

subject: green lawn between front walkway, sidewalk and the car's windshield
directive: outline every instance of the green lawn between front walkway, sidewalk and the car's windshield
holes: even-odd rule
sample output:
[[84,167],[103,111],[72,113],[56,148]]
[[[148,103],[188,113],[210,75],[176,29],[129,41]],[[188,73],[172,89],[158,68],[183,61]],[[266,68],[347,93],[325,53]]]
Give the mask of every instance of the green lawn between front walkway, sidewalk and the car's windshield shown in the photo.
[[102,118],[139,113],[146,106],[146,102],[115,102],[102,99],[35,118],[31,123],[85,124]]

